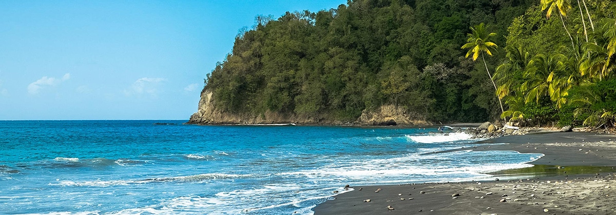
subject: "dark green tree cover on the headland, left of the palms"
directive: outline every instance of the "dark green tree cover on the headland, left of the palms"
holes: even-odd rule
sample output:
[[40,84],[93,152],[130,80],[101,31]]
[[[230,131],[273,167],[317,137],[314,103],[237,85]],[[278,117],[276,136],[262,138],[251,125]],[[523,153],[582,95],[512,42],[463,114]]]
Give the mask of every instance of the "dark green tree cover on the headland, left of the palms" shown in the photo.
[[[206,79],[228,112],[328,114],[353,121],[397,105],[430,121],[500,115],[484,65],[460,49],[469,26],[490,24],[492,42],[532,1],[355,0],[318,12],[257,16]],[[496,57],[486,59],[492,70]]]

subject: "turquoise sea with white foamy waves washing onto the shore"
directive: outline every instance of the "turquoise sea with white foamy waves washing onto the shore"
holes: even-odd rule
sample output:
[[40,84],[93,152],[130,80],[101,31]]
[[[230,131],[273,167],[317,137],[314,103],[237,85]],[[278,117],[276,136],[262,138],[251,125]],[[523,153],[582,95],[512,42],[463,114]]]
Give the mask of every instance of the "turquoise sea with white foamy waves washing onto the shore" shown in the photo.
[[[155,123],[174,123],[160,125]],[[539,154],[437,128],[0,121],[0,214],[312,214],[344,185],[490,179]]]

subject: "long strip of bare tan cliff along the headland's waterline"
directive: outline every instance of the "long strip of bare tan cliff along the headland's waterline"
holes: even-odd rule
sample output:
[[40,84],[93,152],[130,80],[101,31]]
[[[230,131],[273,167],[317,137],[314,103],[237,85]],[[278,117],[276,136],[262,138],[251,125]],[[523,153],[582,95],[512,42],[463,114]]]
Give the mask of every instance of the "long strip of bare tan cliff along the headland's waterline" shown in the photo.
[[197,112],[193,113],[188,124],[359,124],[359,125],[426,125],[426,120],[419,120],[394,105],[383,105],[374,112],[364,111],[353,122],[330,120],[326,116],[298,116],[293,113],[265,112],[262,115],[251,113],[230,113],[216,108],[213,92],[206,89],[201,93]]

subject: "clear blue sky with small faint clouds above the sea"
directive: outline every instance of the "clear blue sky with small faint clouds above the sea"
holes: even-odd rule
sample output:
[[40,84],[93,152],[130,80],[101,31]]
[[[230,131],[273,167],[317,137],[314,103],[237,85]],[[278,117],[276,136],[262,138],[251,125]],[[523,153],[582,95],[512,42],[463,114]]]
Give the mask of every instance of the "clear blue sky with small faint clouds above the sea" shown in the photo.
[[346,0],[0,0],[0,120],[188,120],[256,15]]

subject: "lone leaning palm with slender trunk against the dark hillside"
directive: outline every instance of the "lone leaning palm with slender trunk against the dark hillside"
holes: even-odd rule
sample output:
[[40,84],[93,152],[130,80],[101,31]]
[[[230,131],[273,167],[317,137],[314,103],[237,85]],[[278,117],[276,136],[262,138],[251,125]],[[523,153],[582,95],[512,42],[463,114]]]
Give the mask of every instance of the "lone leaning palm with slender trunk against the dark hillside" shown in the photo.
[[[487,63],[485,63],[484,57],[484,52],[492,56],[492,52],[490,50],[492,49],[493,51],[493,49],[498,47],[490,40],[491,37],[496,36],[496,33],[488,33],[486,28],[488,28],[488,26],[486,26],[484,23],[480,23],[474,28],[471,27],[472,33],[469,33],[468,39],[466,39],[466,42],[468,43],[464,44],[464,46],[462,46],[462,49],[469,49],[468,52],[466,52],[466,57],[469,57],[472,54],[473,61],[477,60],[477,57],[479,57],[479,54],[481,54],[481,59],[484,60],[485,71],[488,72],[488,76],[490,77],[490,81],[492,81],[494,90],[498,91],[498,87],[496,87],[496,83],[494,83],[492,75],[490,75],[490,70],[488,70],[488,65]],[[496,98],[498,98],[498,103],[501,107],[501,113],[505,112],[505,109],[503,108],[503,102],[501,102],[501,98],[498,95],[496,96]]]

